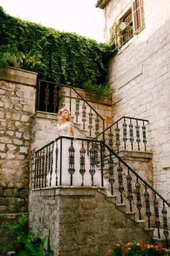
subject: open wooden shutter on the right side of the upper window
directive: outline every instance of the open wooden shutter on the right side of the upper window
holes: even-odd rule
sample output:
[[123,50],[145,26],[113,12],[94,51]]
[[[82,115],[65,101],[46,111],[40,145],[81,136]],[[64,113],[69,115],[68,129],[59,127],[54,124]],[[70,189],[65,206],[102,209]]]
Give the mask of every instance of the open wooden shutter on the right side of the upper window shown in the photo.
[[138,34],[144,28],[142,15],[142,0],[134,0],[132,2],[132,14],[134,21],[134,34]]

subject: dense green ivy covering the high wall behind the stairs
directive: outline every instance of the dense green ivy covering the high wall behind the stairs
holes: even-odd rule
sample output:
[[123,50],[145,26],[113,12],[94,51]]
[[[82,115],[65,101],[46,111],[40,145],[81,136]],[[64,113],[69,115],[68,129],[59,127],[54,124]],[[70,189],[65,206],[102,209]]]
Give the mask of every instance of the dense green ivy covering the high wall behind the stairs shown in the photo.
[[39,69],[39,78],[82,89],[107,82],[108,45],[13,18],[2,7],[0,20],[0,53],[12,53],[18,58],[21,53],[39,56],[45,64]]

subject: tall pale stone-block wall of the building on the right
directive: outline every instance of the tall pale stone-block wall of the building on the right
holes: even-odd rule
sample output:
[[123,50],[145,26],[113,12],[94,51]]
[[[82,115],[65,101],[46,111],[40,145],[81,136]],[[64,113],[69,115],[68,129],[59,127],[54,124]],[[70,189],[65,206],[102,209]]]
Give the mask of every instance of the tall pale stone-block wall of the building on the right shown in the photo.
[[[130,0],[108,1],[107,34],[129,4]],[[114,120],[149,120],[154,185],[170,200],[170,1],[143,0],[143,10],[144,29],[109,60]]]

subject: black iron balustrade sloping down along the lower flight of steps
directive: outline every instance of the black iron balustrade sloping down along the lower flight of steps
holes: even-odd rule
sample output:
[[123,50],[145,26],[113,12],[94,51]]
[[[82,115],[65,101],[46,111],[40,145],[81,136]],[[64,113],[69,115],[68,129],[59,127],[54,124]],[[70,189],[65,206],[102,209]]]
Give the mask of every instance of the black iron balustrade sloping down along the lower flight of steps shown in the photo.
[[107,169],[105,176],[109,179],[111,194],[117,195],[119,203],[126,204],[126,211],[137,212],[139,220],[145,220],[148,228],[157,230],[158,238],[162,238],[162,231],[166,247],[169,248],[170,203],[106,143],[104,155],[107,155],[104,169]]

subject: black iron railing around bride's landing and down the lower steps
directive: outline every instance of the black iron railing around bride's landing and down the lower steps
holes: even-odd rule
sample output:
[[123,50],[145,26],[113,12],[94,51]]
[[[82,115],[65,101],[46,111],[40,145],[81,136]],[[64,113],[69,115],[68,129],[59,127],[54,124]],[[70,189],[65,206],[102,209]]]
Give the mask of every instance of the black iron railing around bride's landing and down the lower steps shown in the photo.
[[[117,195],[117,203],[126,203],[126,211],[137,212],[139,220],[145,219],[148,228],[157,230],[158,238],[161,238],[163,230],[166,246],[169,246],[170,204],[103,141],[82,138],[75,141],[73,138],[61,136],[36,151],[34,160],[34,189],[74,184],[81,187],[103,187],[107,178],[107,188],[111,195]],[[107,172],[104,173],[106,167]],[[69,181],[64,181],[66,173]],[[75,183],[74,176],[78,173],[80,181],[76,178]],[[87,173],[90,184],[84,183]],[[98,175],[100,182],[95,184],[95,177]]]

